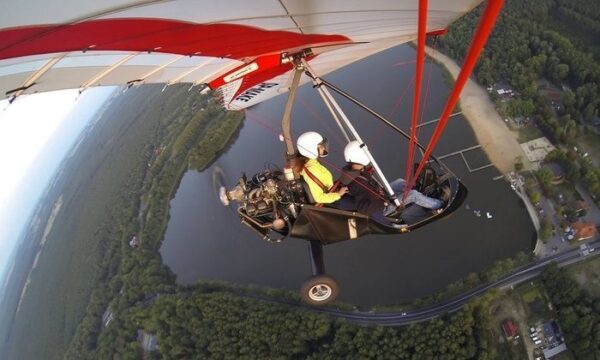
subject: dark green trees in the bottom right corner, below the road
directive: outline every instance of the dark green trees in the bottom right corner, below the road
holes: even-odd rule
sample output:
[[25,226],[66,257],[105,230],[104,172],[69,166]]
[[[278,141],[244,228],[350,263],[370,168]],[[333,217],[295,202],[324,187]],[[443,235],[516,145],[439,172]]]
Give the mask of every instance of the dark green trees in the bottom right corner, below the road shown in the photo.
[[544,269],[542,281],[575,358],[600,358],[600,299],[593,298],[556,265]]

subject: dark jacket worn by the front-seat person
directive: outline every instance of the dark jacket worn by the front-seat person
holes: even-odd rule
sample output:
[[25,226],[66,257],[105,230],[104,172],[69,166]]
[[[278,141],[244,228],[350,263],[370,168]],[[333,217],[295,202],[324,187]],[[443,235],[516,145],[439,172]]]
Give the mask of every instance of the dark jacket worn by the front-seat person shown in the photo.
[[350,195],[354,197],[356,210],[366,214],[381,214],[385,208],[385,195],[370,169],[365,167],[357,171],[346,165],[342,169],[340,181],[348,187]]

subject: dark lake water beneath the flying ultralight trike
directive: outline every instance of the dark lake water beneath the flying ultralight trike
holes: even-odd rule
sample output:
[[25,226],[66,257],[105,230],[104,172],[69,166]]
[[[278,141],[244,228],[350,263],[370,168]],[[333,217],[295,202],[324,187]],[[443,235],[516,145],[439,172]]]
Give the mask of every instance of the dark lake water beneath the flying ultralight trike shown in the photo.
[[[408,129],[412,87],[401,95],[411,82],[414,64],[402,63],[414,55],[411,47],[393,48],[326,78]],[[423,86],[430,86],[422,121],[428,121],[439,117],[450,89],[437,65],[427,64],[424,74]],[[227,151],[205,171],[184,175],[171,201],[160,250],[179,283],[216,279],[298,289],[310,276],[307,242],[262,241],[240,224],[234,207],[220,204],[214,184],[215,178],[223,177],[231,186],[241,172],[251,176],[268,162],[281,166],[285,147],[278,135],[285,100],[286,96],[280,96],[248,110],[239,136]],[[421,101],[423,104],[423,98]],[[402,176],[407,141],[349,102],[340,99],[340,103],[388,179]],[[423,143],[433,127],[421,128]],[[292,132],[298,136],[316,130],[327,136],[331,153],[327,162],[339,166],[345,144],[336,129],[316,91],[307,85],[301,87],[292,113]],[[456,116],[434,154],[441,156],[474,145],[477,141],[470,126],[462,116]],[[465,155],[471,168],[489,163],[480,149]],[[411,301],[495,260],[532,250],[535,230],[531,220],[510,186],[503,180],[492,180],[499,172],[490,167],[469,173],[460,156],[449,157],[445,163],[469,189],[465,204],[452,216],[407,235],[367,236],[325,247],[326,271],[341,285],[340,300],[362,306]],[[475,209],[481,210],[481,217],[474,214]],[[492,219],[485,216],[488,211]]]

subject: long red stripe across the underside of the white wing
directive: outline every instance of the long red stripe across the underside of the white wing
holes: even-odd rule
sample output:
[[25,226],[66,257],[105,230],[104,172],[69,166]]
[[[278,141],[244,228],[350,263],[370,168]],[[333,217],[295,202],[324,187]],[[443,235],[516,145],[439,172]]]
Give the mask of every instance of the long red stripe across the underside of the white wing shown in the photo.
[[305,35],[237,24],[125,18],[3,29],[0,30],[0,59],[93,49],[156,51],[237,60],[348,41],[342,35]]

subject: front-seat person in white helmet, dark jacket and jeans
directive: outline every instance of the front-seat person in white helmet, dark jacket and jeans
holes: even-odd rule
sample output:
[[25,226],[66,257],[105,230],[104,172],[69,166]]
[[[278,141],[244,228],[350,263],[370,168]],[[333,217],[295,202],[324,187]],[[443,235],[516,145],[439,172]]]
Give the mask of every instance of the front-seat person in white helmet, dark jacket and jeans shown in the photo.
[[[371,161],[360,142],[348,143],[344,149],[344,158],[347,164],[343,169],[341,181],[348,186],[350,194],[354,197],[356,210],[368,214],[380,224],[391,226],[392,223],[384,215],[393,211],[396,206],[388,203],[383,187],[373,177],[372,168],[368,167]],[[399,199],[403,195],[404,183],[404,179],[400,178],[390,184]],[[439,209],[443,205],[441,200],[425,196],[416,190],[408,193],[403,205],[413,202],[432,210]]]

